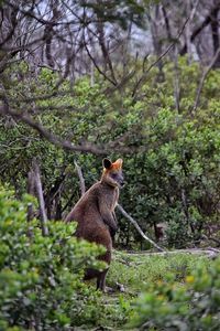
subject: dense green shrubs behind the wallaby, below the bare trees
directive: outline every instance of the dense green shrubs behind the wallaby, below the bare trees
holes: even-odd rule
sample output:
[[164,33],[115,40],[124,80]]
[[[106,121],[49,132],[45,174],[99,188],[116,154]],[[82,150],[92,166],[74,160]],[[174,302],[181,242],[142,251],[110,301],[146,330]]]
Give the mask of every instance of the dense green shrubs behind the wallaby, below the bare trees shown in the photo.
[[[204,234],[219,226],[220,75],[217,70],[209,74],[194,111],[199,67],[179,58],[178,73],[178,109],[170,63],[164,66],[163,81],[157,68],[152,70],[135,97],[132,79],[113,93],[98,74],[94,85],[86,76],[73,87],[66,79],[56,96],[56,73],[42,68],[34,76],[24,62],[8,70],[4,86],[13,109],[31,111],[34,120],[74,143],[108,146],[110,157],[122,157],[128,182],[121,193],[124,209],[143,231],[152,233],[153,225],[165,223],[167,244],[184,247],[198,245]],[[45,98],[45,90],[52,97]],[[101,156],[66,152],[11,118],[1,119],[0,145],[0,179],[10,182],[18,196],[26,191],[30,164],[37,156],[50,218],[61,220],[80,196],[75,160],[87,188],[101,173]],[[118,243],[127,247],[141,243],[131,225],[119,218]],[[217,236],[213,239],[218,243]]]

